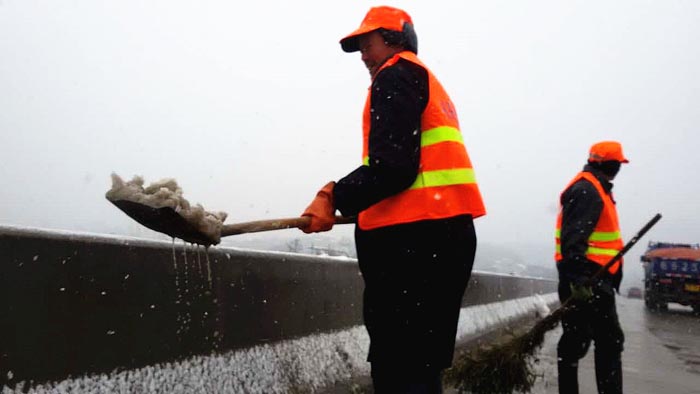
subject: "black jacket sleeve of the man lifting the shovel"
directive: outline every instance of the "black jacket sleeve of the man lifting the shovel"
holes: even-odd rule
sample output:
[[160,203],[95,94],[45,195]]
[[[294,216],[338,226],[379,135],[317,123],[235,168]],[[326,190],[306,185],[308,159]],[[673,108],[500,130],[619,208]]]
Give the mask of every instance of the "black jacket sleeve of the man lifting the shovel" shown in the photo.
[[407,189],[418,175],[421,115],[428,103],[428,73],[408,61],[380,71],[370,98],[369,166],[334,188],[336,208],[352,216]]

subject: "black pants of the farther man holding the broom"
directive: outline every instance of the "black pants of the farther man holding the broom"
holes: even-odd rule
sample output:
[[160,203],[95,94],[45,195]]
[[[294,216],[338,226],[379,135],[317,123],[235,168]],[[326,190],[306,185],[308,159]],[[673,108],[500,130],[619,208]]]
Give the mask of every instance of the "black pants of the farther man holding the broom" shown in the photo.
[[[559,299],[570,295],[569,284],[559,284]],[[578,361],[595,342],[595,375],[600,394],[622,393],[622,350],[625,342],[615,308],[615,295],[594,289],[588,302],[575,303],[562,318],[564,333],[557,347],[559,393],[578,394]]]

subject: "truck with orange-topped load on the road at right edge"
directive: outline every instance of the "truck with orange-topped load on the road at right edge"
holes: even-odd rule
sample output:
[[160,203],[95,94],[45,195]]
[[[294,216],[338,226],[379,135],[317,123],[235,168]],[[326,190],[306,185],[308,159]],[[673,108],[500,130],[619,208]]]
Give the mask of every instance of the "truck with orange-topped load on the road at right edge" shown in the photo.
[[700,244],[650,241],[644,264],[644,303],[663,311],[669,302],[700,313]]

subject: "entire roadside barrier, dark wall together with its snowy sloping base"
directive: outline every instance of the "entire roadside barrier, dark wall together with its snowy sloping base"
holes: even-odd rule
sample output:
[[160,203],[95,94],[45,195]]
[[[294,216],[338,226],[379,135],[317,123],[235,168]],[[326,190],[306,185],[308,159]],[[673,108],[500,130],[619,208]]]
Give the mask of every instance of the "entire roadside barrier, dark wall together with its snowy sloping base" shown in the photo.
[[[555,287],[475,272],[458,340]],[[362,288],[352,259],[0,226],[0,387],[317,391],[368,373]]]

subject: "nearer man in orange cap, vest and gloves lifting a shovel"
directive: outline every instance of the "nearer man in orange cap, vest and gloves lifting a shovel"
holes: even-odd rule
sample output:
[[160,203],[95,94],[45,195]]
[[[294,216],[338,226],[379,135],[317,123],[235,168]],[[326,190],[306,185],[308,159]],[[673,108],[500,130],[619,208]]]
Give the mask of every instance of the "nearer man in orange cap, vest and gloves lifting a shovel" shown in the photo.
[[302,230],[330,230],[336,209],[358,216],[374,390],[440,393],[474,262],[473,219],[485,214],[474,170],[452,101],[416,56],[405,11],[371,8],[340,44],[361,53],[371,77],[362,165],[318,192]]

